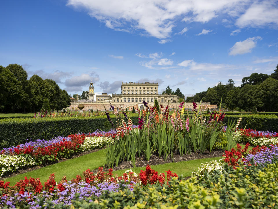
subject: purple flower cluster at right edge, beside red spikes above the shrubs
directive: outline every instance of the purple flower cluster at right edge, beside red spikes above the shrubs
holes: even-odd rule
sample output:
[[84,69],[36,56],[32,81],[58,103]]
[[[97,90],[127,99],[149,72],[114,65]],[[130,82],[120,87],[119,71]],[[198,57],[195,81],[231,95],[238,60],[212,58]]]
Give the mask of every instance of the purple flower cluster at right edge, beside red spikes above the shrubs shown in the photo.
[[[253,163],[256,164],[270,164],[273,163],[274,160],[278,158],[278,147],[272,146],[271,148],[266,148],[261,152],[257,152],[256,154],[248,154],[245,159],[246,161],[253,160]],[[245,161],[245,162],[246,162]]]

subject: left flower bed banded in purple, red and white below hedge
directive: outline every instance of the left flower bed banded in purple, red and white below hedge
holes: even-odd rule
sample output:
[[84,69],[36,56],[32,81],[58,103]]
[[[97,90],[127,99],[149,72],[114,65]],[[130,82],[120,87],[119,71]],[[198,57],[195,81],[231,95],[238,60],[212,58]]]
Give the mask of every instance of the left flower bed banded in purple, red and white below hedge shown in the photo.
[[[136,126],[134,126],[136,127]],[[69,158],[75,153],[102,148],[114,142],[115,130],[96,131],[89,134],[72,134],[46,140],[27,140],[25,144],[4,148],[0,152],[0,176],[23,167],[41,165]]]

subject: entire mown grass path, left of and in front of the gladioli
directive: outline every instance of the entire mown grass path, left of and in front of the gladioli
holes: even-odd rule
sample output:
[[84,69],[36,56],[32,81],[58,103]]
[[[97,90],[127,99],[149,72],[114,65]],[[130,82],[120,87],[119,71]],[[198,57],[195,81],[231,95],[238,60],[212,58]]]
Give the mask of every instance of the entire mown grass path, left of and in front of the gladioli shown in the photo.
[[[240,144],[242,148],[245,146],[244,144]],[[252,149],[252,146],[249,146],[248,150]],[[218,160],[221,157],[216,158],[204,158],[192,161],[182,161],[178,163],[166,163],[163,165],[152,165],[151,168],[156,170],[158,173],[165,173],[167,170],[171,170],[173,173],[178,175],[190,176],[193,170],[196,170],[201,163],[206,163],[212,160]],[[30,172],[26,172],[23,174],[19,174],[17,176],[6,178],[4,181],[10,181],[11,185],[17,183],[20,179],[24,179],[26,176],[27,178],[40,178],[41,182],[47,181],[48,177],[51,173],[55,174],[56,181],[60,181],[63,176],[67,176],[68,180],[75,178],[77,175],[82,175],[83,171],[87,170],[88,168],[94,170],[98,167],[102,167],[105,164],[105,149],[100,150],[98,152],[93,152],[90,154],[86,154],[80,156],[78,158],[69,159],[64,162],[56,163],[53,165],[49,165],[43,167],[38,170],[33,170]],[[135,167],[131,168],[134,172],[139,173],[140,170],[145,170],[145,167]],[[122,175],[126,170],[123,169],[114,171],[113,174]]]

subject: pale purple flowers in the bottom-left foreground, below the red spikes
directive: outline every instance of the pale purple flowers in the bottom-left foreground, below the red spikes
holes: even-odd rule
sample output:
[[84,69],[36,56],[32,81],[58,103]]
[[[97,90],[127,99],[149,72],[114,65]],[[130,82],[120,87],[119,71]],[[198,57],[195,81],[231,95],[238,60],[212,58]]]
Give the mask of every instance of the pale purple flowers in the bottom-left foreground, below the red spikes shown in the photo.
[[[136,184],[135,182],[132,183]],[[0,207],[3,208],[8,206],[8,208],[16,208],[16,206],[21,206],[23,203],[28,202],[30,209],[37,209],[41,208],[37,204],[41,197],[52,199],[54,204],[64,203],[64,205],[71,205],[72,200],[81,200],[92,196],[100,197],[103,191],[108,190],[109,192],[115,192],[119,188],[119,184],[113,182],[103,182],[98,183],[97,186],[92,186],[85,181],[78,184],[68,181],[68,183],[64,183],[63,186],[65,187],[64,191],[54,190],[54,193],[43,191],[41,194],[32,196],[32,192],[29,194],[25,192],[24,194],[16,193],[14,197],[2,196],[0,199]],[[133,190],[130,184],[127,184],[126,187],[131,191]],[[76,199],[75,195],[77,193],[79,194],[78,199]]]

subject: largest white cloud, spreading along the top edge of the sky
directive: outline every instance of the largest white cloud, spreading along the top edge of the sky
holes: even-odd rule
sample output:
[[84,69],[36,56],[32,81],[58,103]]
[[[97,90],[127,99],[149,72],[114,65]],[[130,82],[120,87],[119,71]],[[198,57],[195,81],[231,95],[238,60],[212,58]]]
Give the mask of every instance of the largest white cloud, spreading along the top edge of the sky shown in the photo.
[[[172,29],[177,26],[181,17],[182,21],[200,23],[206,23],[219,15],[226,15],[229,19],[229,16],[242,14],[249,5],[250,0],[67,1],[67,6],[85,9],[88,15],[103,22],[108,28],[127,32],[143,30],[143,35],[159,39],[171,37]],[[272,15],[276,17],[275,14]]]

